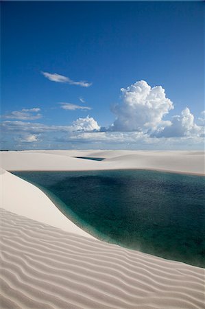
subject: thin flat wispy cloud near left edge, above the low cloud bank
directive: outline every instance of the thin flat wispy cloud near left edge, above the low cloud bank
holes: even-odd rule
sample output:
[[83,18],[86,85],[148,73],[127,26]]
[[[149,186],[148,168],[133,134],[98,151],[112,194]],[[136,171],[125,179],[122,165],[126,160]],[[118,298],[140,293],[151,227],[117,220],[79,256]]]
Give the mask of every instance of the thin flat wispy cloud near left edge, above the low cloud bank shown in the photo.
[[11,113],[5,114],[2,117],[4,119],[35,120],[42,117],[38,111],[40,111],[40,108],[38,107],[23,108],[21,111],[12,111]]

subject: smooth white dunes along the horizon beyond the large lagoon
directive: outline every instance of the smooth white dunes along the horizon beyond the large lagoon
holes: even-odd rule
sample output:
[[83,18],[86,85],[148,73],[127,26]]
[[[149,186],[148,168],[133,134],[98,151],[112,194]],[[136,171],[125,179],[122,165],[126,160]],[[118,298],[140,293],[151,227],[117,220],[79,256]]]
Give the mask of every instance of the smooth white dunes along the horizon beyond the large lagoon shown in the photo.
[[[136,168],[205,174],[202,151],[36,150],[1,152],[4,170],[111,170]],[[103,157],[91,161],[75,157]]]

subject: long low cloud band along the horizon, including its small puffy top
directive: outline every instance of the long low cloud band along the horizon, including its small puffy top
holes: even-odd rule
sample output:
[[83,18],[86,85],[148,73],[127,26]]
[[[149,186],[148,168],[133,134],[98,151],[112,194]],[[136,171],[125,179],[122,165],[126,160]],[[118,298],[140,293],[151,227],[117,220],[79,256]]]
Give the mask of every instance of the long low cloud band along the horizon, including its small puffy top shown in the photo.
[[[69,147],[72,143],[73,145],[77,143],[80,148],[93,147],[93,149],[96,147],[98,149],[162,150],[202,149],[204,147],[202,135],[158,138],[143,132],[101,132],[93,117],[79,118],[70,126],[47,126],[32,122],[5,121],[1,124],[1,131],[6,140],[14,139],[21,144],[21,147],[19,146],[21,149],[24,148],[22,145],[33,146],[36,145],[35,142],[38,142],[38,147],[41,145],[43,148],[47,148],[47,145],[56,142],[61,143],[58,144],[58,147],[66,145]],[[6,143],[4,142],[4,144]],[[12,148],[16,147],[18,148],[18,144],[13,144]]]

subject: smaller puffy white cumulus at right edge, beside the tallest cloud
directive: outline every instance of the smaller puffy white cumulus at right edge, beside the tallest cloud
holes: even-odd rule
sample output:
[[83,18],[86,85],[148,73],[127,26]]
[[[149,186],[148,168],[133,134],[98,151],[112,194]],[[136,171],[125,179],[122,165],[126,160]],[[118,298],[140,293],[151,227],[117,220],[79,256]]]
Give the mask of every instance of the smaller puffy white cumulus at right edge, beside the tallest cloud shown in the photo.
[[203,127],[197,126],[194,122],[194,116],[186,107],[181,115],[172,117],[172,122],[158,133],[154,133],[156,137],[189,137],[192,135],[200,136],[203,133]]

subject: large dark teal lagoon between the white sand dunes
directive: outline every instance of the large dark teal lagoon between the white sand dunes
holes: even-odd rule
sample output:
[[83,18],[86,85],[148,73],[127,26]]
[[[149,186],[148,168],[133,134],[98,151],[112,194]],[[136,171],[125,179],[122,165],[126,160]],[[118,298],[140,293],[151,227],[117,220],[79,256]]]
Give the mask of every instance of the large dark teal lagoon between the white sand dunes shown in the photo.
[[13,172],[96,238],[205,266],[205,177],[148,170]]

